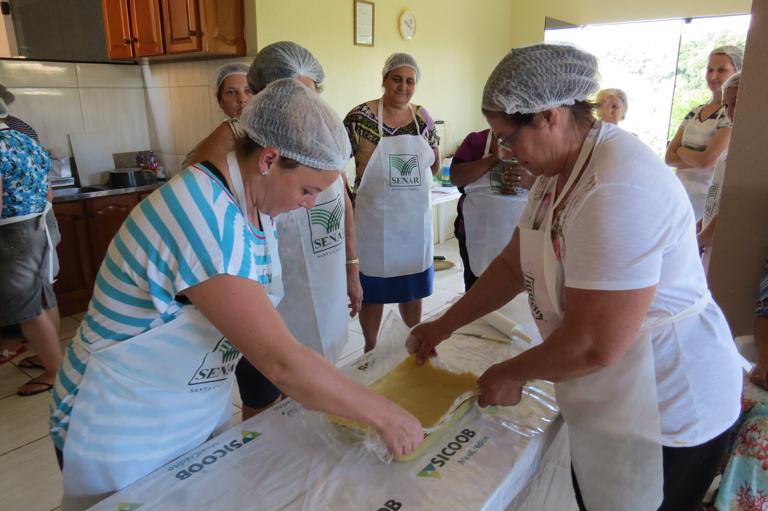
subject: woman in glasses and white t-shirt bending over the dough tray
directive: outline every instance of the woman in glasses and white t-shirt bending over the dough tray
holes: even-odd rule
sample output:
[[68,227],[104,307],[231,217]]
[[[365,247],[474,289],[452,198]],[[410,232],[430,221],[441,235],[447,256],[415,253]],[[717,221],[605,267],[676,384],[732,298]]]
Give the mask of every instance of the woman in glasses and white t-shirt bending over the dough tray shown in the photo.
[[[742,371],[707,289],[683,185],[637,137],[594,118],[598,59],[568,45],[510,51],[483,113],[538,176],[511,242],[407,341],[416,363],[523,291],[544,341],[492,365],[480,406],[554,381],[581,511],[699,509],[739,415]],[[439,349],[439,348],[437,348]]]

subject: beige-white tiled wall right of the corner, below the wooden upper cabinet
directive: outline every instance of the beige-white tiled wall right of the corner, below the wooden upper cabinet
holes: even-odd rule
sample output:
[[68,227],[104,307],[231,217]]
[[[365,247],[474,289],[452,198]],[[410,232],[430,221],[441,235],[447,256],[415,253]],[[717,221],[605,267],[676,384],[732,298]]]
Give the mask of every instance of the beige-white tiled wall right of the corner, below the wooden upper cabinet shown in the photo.
[[223,121],[210,88],[215,71],[228,62],[251,61],[238,57],[141,66],[150,148],[167,174],[177,173],[187,153]]

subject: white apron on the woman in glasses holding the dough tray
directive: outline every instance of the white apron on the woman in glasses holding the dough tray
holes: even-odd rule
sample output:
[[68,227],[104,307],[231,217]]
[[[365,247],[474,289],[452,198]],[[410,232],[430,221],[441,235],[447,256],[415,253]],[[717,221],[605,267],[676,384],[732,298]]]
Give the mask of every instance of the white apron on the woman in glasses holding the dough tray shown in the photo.
[[[599,122],[599,121],[598,121]],[[551,242],[554,211],[574,183],[592,148],[599,150],[604,125],[590,132],[560,196],[545,222],[534,230],[536,214],[521,223],[520,260],[528,304],[542,338],[562,325],[557,261]],[[548,191],[554,193],[557,180]],[[670,318],[645,318],[627,353],[609,368],[555,384],[568,423],[571,458],[584,505],[590,511],[650,511],[663,499],[659,404],[649,328],[695,315],[710,295]]]

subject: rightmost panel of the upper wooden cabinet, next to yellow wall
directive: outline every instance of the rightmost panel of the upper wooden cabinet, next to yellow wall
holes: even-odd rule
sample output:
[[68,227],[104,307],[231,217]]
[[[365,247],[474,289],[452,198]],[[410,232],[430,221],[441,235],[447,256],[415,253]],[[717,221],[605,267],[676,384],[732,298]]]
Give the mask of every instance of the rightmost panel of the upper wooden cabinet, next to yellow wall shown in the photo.
[[246,54],[243,0],[205,0],[201,14],[205,27],[204,51]]

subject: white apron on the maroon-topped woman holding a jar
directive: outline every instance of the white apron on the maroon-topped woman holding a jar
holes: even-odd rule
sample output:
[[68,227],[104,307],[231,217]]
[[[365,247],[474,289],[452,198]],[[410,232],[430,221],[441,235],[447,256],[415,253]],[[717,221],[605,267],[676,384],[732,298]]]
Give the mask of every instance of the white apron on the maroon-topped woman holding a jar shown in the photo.
[[[485,155],[490,154],[493,131],[488,130]],[[476,276],[507,246],[520,215],[528,203],[528,190],[515,187],[515,195],[502,195],[502,162],[492,166],[478,180],[464,187],[466,198],[462,206],[467,236],[469,267]]]

